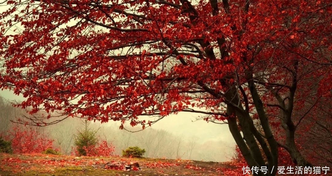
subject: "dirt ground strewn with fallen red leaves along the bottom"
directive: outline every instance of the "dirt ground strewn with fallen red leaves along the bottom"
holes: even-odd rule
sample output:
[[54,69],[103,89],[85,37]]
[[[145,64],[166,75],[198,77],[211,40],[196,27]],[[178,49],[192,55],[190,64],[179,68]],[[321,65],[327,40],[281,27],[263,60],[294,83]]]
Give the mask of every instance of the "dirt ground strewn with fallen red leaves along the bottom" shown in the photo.
[[[104,165],[108,162],[138,162],[141,170],[104,169]],[[0,153],[0,176],[223,176],[223,168],[232,168],[232,166],[217,162],[159,158]]]

